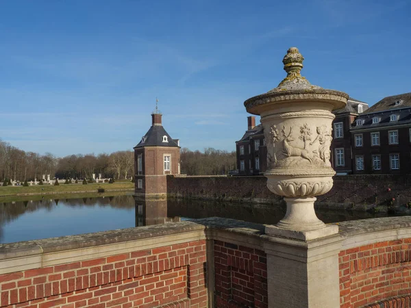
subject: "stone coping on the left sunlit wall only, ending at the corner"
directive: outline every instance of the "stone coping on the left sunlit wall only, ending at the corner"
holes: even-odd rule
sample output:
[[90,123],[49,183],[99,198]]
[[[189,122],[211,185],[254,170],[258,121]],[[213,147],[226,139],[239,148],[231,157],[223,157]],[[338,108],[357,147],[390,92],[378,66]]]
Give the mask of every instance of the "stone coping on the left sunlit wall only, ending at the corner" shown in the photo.
[[62,236],[60,238],[0,244],[0,260],[55,253],[78,248],[119,244],[121,242],[157,238],[165,235],[200,231],[203,229],[204,226],[195,222],[170,222],[147,227],[117,229],[81,235]]

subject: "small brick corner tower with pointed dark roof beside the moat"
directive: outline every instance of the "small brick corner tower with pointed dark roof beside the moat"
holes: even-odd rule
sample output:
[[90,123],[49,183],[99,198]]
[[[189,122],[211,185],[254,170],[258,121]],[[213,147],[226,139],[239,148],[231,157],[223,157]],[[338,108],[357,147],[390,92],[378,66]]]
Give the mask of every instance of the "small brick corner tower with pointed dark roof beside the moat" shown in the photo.
[[152,124],[134,146],[136,194],[166,194],[166,175],[179,174],[179,140],[173,139],[162,126],[162,114],[155,107]]

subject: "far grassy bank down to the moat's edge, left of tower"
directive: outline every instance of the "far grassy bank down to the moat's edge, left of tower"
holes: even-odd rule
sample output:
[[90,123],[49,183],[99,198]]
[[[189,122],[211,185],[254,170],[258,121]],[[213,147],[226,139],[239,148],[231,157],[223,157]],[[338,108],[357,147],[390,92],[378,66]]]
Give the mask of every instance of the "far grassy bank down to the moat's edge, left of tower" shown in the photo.
[[[133,192],[134,183],[131,182],[116,182],[116,183],[90,183],[87,185],[82,184],[63,184],[60,185],[36,185],[36,186],[6,186],[0,187],[0,202],[11,202],[11,201],[22,201],[20,197],[27,196],[47,196],[53,195],[53,198],[58,195],[70,195],[73,194],[95,194],[99,196],[101,193],[98,193],[99,189],[104,189],[104,192]],[[16,198],[18,197],[18,198]],[[33,199],[31,198],[31,199]],[[27,198],[26,198],[27,199]]]

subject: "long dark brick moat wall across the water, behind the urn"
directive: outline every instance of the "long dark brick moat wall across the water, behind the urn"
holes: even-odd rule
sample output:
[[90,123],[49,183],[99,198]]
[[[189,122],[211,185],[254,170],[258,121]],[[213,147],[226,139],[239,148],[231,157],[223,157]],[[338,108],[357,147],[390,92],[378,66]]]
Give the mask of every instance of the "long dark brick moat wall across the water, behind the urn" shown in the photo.
[[[345,175],[334,177],[330,192],[317,196],[316,205],[386,211],[411,200],[411,175]],[[390,188],[390,190],[388,190]],[[175,177],[167,176],[167,193],[184,198],[215,198],[232,201],[279,203],[279,197],[266,187],[266,177]]]

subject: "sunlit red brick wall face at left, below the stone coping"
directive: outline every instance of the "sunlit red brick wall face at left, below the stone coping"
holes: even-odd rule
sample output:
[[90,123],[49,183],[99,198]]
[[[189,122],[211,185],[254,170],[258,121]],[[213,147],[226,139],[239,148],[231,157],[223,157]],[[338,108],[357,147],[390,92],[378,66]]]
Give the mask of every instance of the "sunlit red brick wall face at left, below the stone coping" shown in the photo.
[[0,275],[0,307],[206,307],[205,274],[199,240]]

